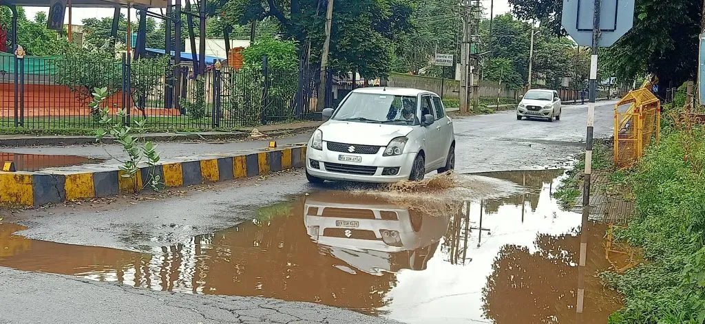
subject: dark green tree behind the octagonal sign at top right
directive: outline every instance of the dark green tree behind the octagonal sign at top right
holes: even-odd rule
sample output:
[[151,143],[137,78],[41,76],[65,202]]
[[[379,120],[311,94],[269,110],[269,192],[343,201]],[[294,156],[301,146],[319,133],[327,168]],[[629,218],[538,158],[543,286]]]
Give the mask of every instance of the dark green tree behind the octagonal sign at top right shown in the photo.
[[[561,0],[509,0],[520,19],[537,19],[560,35]],[[621,80],[654,73],[663,84],[680,85],[697,72],[702,1],[637,0],[634,27],[610,49],[601,64]],[[666,87],[661,87],[665,91]]]

